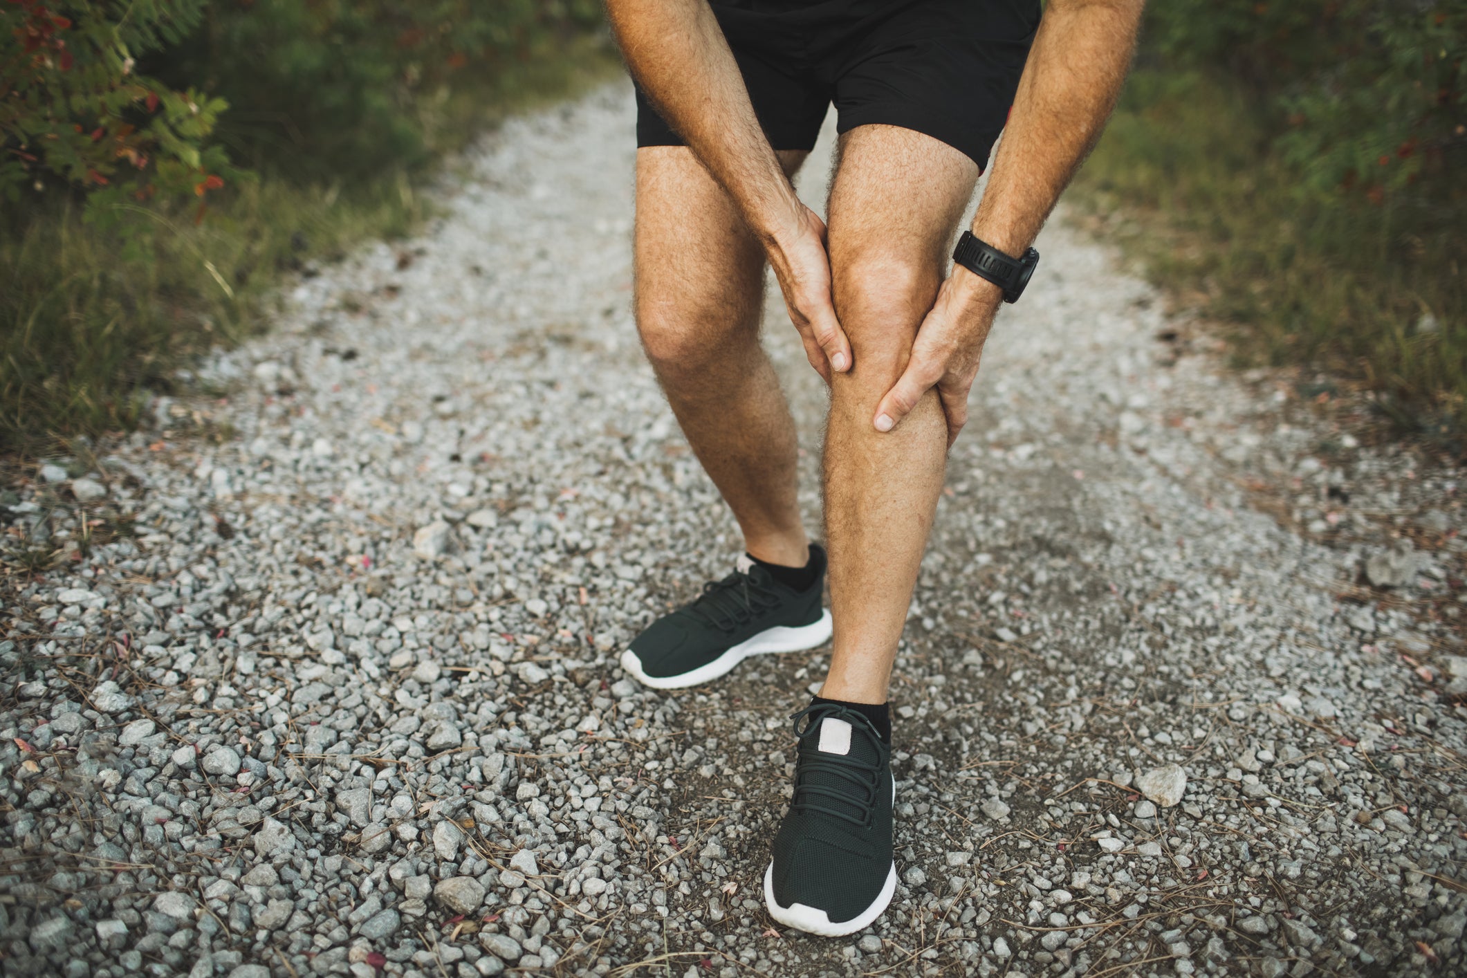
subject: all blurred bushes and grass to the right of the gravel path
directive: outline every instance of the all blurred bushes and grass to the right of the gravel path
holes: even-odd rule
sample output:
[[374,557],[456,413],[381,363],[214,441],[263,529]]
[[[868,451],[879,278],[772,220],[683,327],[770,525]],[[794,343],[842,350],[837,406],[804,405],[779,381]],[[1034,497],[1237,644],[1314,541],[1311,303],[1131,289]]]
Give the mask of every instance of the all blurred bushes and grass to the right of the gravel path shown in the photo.
[[1157,0],[1078,199],[1240,362],[1460,452],[1464,56],[1467,0]]

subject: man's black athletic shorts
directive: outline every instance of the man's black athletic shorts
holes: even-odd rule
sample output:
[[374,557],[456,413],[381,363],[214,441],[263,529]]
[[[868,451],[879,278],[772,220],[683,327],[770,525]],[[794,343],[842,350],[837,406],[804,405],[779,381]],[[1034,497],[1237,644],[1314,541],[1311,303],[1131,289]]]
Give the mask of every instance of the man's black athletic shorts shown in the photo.
[[[710,0],[776,150],[839,130],[902,126],[978,169],[1003,129],[1039,28],[1039,0]],[[637,145],[682,138],[637,91]]]

